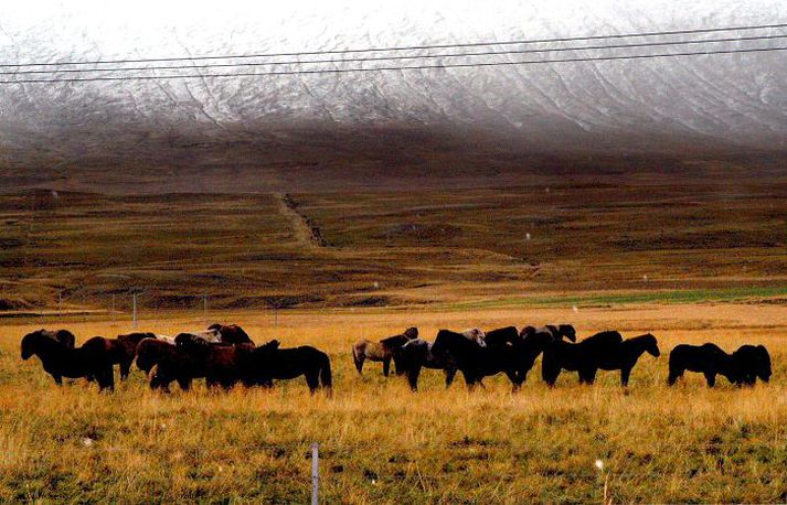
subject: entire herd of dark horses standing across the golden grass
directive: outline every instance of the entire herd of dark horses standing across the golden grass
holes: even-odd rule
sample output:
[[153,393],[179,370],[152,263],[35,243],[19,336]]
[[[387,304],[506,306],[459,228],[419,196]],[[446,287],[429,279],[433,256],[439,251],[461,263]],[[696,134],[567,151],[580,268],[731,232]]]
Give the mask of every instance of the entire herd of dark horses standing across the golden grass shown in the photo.
[[[22,359],[38,356],[57,385],[63,377],[95,380],[100,390],[115,388],[115,365],[125,380],[136,361],[147,374],[151,389],[169,390],[172,383],[188,390],[194,379],[204,378],[209,387],[228,389],[235,385],[272,387],[274,380],[304,376],[313,394],[319,387],[332,388],[330,358],[312,346],[283,348],[273,340],[255,345],[238,325],[212,324],[204,331],[180,333],[174,337],[153,333],[129,333],[116,339],[94,336],[82,346],[67,330],[39,330],[21,342]],[[416,327],[379,341],[360,340],[352,346],[359,374],[366,361],[382,362],[389,376],[393,362],[396,375],[406,377],[413,391],[424,368],[445,374],[446,387],[457,373],[467,386],[483,386],[482,379],[504,374],[518,390],[535,361],[542,356],[542,378],[554,386],[563,370],[576,372],[581,384],[593,384],[598,370],[619,370],[620,384],[627,386],[639,357],[658,357],[656,336],[650,333],[624,339],[617,331],[604,331],[576,342],[571,324],[542,327],[501,327],[485,332],[440,330],[434,342],[421,339]],[[772,375],[770,355],[763,345],[742,345],[727,354],[715,344],[681,344],[669,357],[671,386],[684,372],[705,376],[715,385],[716,376],[732,384],[754,385]]]

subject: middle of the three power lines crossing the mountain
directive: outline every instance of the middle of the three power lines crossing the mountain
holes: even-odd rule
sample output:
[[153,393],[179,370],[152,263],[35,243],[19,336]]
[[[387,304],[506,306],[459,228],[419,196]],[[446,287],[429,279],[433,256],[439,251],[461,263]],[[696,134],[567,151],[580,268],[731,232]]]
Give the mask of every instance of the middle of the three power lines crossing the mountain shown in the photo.
[[236,68],[236,67],[255,67],[255,66],[280,66],[280,65],[306,65],[319,63],[361,63],[361,62],[379,62],[379,61],[404,61],[404,60],[434,60],[442,57],[477,57],[477,56],[498,56],[512,54],[536,54],[536,53],[561,53],[567,51],[597,51],[611,49],[635,49],[635,47],[657,47],[657,46],[673,46],[673,45],[691,45],[691,44],[717,44],[722,42],[753,42],[767,41],[776,39],[787,39],[787,33],[778,35],[755,35],[755,36],[738,36],[725,39],[706,39],[706,40],[689,40],[689,41],[666,41],[666,42],[641,42],[635,44],[607,44],[607,45],[588,45],[588,46],[570,46],[570,47],[553,47],[542,50],[521,50],[521,51],[483,51],[475,53],[438,53],[438,54],[418,54],[405,56],[372,56],[360,58],[339,58],[339,60],[290,60],[286,62],[254,62],[254,63],[211,63],[204,65],[163,65],[163,66],[132,66],[132,67],[115,67],[115,68],[63,68],[53,71],[14,71],[0,72],[0,75],[31,75],[31,74],[85,74],[96,72],[137,72],[137,71],[177,71],[177,69],[200,69],[200,68]]

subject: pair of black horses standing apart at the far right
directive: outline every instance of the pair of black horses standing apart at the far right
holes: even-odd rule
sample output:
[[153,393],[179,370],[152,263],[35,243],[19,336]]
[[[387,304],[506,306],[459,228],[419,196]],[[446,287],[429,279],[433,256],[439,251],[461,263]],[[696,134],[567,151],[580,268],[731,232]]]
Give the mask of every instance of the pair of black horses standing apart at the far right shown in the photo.
[[754,385],[770,379],[770,355],[763,345],[742,345],[733,354],[727,354],[715,344],[681,344],[670,353],[670,374],[667,384],[672,386],[685,370],[699,372],[705,376],[708,387],[716,385],[716,375],[726,377],[737,386]]

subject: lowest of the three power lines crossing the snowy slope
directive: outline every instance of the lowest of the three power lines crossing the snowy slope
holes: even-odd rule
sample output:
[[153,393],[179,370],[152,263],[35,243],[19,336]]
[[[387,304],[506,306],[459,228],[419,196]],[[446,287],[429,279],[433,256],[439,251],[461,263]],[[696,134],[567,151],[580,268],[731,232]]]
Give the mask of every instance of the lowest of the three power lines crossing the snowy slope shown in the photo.
[[598,57],[574,57],[574,58],[554,58],[554,60],[531,60],[524,62],[481,62],[481,63],[456,63],[456,64],[435,64],[435,65],[412,65],[412,66],[387,66],[373,68],[323,68],[313,71],[281,71],[281,72],[253,72],[253,73],[231,73],[231,74],[192,74],[192,75],[131,75],[123,77],[71,77],[56,79],[19,79],[19,80],[0,80],[0,84],[40,84],[40,83],[85,83],[85,82],[105,82],[105,80],[156,80],[156,79],[185,79],[185,78],[210,78],[210,77],[265,77],[274,75],[315,75],[315,74],[343,74],[350,72],[386,72],[386,71],[415,71],[415,69],[436,69],[436,68],[468,68],[468,67],[491,67],[491,66],[511,66],[511,65],[534,65],[543,63],[575,63],[575,62],[603,62],[618,60],[644,60],[659,57],[676,57],[676,56],[705,56],[715,54],[741,54],[741,53],[767,53],[775,51],[787,51],[787,46],[781,47],[758,47],[743,50],[724,50],[724,51],[696,51],[682,53],[661,53],[661,54],[638,54],[626,56],[598,56]]

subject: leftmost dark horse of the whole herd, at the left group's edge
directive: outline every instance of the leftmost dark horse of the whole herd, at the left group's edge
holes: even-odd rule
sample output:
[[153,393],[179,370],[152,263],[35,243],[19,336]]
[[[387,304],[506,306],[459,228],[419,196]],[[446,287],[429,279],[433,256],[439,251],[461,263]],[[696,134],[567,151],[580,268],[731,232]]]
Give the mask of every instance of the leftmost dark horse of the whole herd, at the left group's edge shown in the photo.
[[115,389],[113,363],[106,351],[106,339],[102,336],[94,336],[81,347],[73,348],[46,333],[33,332],[22,337],[21,348],[22,359],[39,356],[44,370],[59,386],[63,385],[63,377],[93,377],[99,391]]

